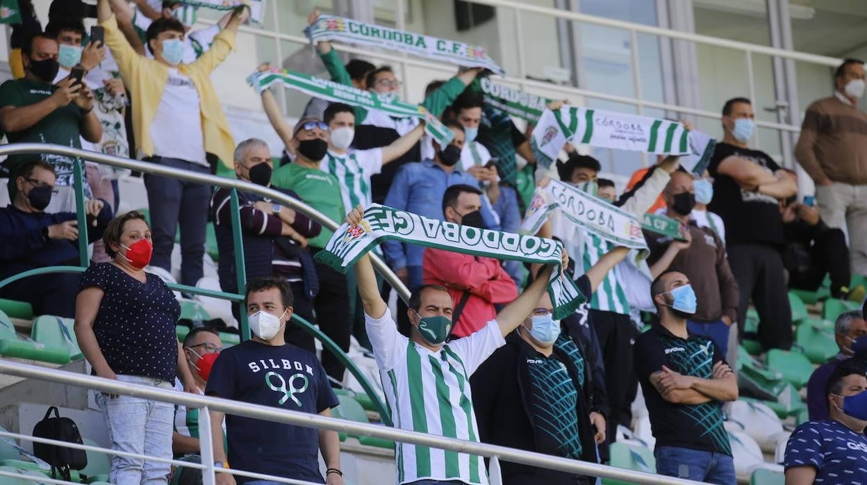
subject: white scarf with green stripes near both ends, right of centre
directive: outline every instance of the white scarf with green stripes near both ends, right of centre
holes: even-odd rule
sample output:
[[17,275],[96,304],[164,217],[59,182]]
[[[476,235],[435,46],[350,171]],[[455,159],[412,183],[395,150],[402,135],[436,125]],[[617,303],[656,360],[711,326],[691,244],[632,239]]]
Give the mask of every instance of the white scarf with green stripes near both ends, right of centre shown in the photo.
[[544,110],[533,129],[531,147],[536,160],[545,168],[557,160],[567,141],[649,154],[696,154],[699,157],[695,165],[688,166],[689,160],[681,160],[681,164],[694,174],[701,174],[714,147],[707,135],[702,136],[703,146],[694,132],[678,121],[563,105],[555,111]]

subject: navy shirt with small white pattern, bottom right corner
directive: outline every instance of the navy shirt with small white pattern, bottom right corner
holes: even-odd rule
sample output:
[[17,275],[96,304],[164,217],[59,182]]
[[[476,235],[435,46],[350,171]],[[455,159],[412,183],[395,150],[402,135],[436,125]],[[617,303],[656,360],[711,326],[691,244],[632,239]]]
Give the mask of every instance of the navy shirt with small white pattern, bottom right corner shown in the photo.
[[837,421],[801,424],[786,443],[786,469],[813,467],[814,483],[864,483],[867,477],[867,436]]

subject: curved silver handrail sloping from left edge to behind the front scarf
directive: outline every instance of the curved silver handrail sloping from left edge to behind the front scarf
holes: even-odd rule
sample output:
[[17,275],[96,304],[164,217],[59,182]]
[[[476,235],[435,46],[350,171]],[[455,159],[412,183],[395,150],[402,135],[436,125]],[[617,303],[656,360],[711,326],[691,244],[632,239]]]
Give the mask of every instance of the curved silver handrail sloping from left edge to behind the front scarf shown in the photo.
[[[49,143],[10,143],[8,145],[0,145],[0,156],[10,154],[66,155],[79,157],[83,160],[93,161],[111,167],[127,168],[144,174],[162,175],[165,177],[173,177],[180,180],[197,182],[216,187],[235,188],[246,193],[255,193],[271,200],[276,200],[277,202],[280,202],[280,204],[288,206],[299,213],[303,213],[312,220],[316,220],[316,222],[331,231],[336,231],[337,227],[340,226],[339,223],[330,220],[328,216],[317,211],[315,208],[308,206],[301,200],[293,199],[285,193],[277,192],[271,188],[262,187],[244,180],[227,179],[218,175],[188,172],[179,168],[166,167],[165,165],[158,165],[147,161],[129,160],[114,155],[89,152],[88,150],[82,150],[81,148],[64,147],[62,145]],[[388,265],[383,263],[378,256],[373,252],[370,252],[369,254],[376,272],[379,272],[382,277],[388,281],[388,284],[398,292],[403,301],[408,301],[409,290],[407,289],[407,286],[403,284],[401,279],[399,279],[397,275],[388,268]]]

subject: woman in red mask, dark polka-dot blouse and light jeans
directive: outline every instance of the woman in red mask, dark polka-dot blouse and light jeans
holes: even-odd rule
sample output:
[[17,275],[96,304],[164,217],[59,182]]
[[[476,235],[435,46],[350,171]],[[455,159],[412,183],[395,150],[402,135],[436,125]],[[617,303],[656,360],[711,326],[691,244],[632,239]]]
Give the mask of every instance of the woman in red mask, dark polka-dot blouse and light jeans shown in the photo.
[[[179,376],[194,386],[175,335],[180,305],[160,277],[144,271],[153,251],[144,214],[112,220],[102,241],[112,260],[88,267],[75,301],[75,337],[93,373],[162,389],[173,389]],[[172,458],[172,403],[106,394],[96,402],[112,449]],[[169,472],[164,462],[114,456],[110,481],[166,483]]]

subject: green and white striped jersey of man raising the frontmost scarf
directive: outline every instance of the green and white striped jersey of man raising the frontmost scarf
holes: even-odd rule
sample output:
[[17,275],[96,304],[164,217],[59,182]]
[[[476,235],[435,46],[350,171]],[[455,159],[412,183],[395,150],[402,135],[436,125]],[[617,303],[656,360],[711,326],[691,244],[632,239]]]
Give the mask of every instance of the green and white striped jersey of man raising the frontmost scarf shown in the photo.
[[[470,376],[505,344],[496,320],[433,352],[402,336],[386,310],[365,315],[394,427],[479,442]],[[397,483],[423,479],[486,484],[485,461],[456,451],[397,443]]]

